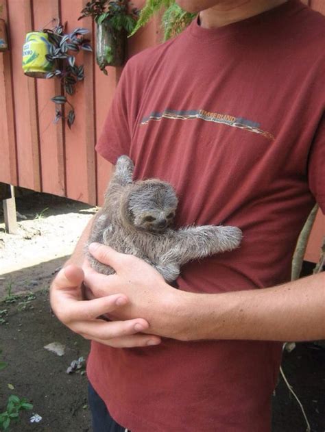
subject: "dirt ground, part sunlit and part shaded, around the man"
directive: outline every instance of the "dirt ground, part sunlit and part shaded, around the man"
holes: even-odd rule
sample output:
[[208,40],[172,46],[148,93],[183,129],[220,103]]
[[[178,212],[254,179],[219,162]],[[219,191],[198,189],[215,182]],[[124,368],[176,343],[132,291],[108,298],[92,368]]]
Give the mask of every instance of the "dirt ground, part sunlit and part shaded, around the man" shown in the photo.
[[[25,216],[16,235],[5,233],[0,215],[0,361],[8,363],[0,370],[0,413],[8,396],[16,394],[34,407],[11,431],[91,431],[86,375],[66,372],[71,361],[86,358],[89,344],[51,314],[48,288],[95,209],[36,193],[16,199],[16,205]],[[44,348],[51,342],[60,342],[64,355]],[[315,343],[297,344],[285,352],[282,364],[313,432],[325,431],[324,365],[325,350]],[[282,378],[273,399],[272,432],[304,432],[300,407]],[[42,416],[39,423],[29,422],[33,413]]]

